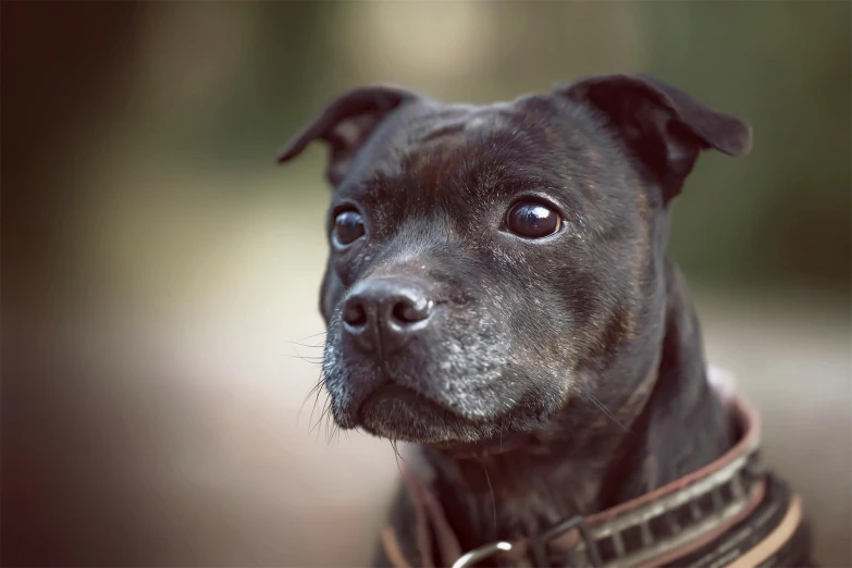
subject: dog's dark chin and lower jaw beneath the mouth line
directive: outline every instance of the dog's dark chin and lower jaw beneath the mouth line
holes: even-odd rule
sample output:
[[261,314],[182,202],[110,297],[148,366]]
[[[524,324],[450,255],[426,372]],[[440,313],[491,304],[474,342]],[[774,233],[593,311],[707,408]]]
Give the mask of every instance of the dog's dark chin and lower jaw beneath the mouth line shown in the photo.
[[469,420],[397,384],[376,388],[358,409],[356,424],[376,436],[436,447],[477,443],[495,430],[490,420]]

